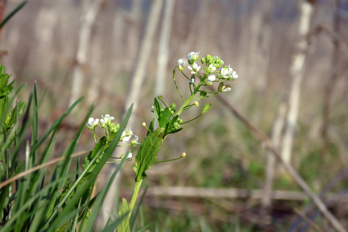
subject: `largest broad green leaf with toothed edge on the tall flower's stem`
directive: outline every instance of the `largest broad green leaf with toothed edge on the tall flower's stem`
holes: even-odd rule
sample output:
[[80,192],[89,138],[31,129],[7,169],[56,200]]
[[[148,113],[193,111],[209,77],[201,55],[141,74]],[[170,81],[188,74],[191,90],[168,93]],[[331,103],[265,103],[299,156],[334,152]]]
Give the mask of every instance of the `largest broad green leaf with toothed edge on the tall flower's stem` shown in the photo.
[[157,153],[161,148],[162,139],[164,136],[164,128],[158,128],[151,132],[148,137],[141,143],[137,155],[135,156],[135,181],[146,178],[146,171],[152,166],[152,163],[157,159]]

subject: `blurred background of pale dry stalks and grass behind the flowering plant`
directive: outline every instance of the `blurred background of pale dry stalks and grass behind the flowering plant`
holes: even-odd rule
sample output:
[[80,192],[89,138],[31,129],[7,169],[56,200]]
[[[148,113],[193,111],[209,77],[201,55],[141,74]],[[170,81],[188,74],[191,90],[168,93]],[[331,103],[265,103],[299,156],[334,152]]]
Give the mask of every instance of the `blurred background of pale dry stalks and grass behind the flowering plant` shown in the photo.
[[[6,12],[20,2],[8,0]],[[347,20],[347,0],[31,0],[3,28],[0,62],[17,87],[27,83],[18,99],[27,99],[34,81],[40,94],[47,88],[42,132],[85,96],[62,125],[59,154],[94,102],[92,117],[110,114],[118,122],[136,102],[130,124],[141,141],[155,96],[180,104],[172,78],[177,60],[186,61],[189,75],[189,52],[219,56],[239,75],[229,83],[232,91],[219,95],[272,139],[347,227]],[[188,96],[180,72],[176,81]],[[187,156],[148,171],[141,210],[153,222],[149,231],[333,231],[221,99],[201,100],[182,119],[200,114],[207,102],[211,110],[168,136],[158,160]],[[93,145],[85,131],[79,149]],[[128,200],[133,164],[122,168],[118,185]],[[267,179],[278,195],[263,192]],[[106,212],[117,217],[117,211]]]

